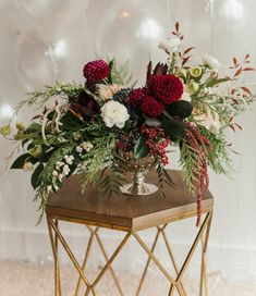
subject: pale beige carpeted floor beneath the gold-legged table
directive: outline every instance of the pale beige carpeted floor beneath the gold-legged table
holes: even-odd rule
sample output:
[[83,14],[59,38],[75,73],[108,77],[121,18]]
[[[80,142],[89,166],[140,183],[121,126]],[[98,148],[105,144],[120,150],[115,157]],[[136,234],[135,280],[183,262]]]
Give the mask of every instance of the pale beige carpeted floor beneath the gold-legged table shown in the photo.
[[[62,296],[74,295],[75,278],[71,267],[62,269]],[[93,272],[92,276],[97,273]],[[139,276],[129,273],[119,273],[121,285],[125,296],[135,295]],[[198,296],[198,289],[193,281],[185,279],[187,296]],[[209,296],[255,296],[253,287],[243,284],[231,285],[216,275],[209,276]],[[101,296],[118,296],[118,292],[108,274],[106,273],[102,284],[98,287]],[[82,293],[83,294],[83,293]],[[82,295],[81,294],[81,295]],[[0,262],[0,296],[53,296],[53,267],[39,266],[26,262]],[[154,275],[147,279],[142,291],[142,296],[168,295],[166,279]]]

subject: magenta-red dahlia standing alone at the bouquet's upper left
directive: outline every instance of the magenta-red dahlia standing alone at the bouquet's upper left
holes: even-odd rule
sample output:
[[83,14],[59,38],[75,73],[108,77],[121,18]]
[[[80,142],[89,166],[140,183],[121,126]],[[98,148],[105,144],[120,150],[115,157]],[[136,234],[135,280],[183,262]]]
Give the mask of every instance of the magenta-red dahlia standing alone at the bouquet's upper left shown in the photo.
[[87,83],[97,83],[109,75],[109,65],[103,60],[88,62],[84,66]]

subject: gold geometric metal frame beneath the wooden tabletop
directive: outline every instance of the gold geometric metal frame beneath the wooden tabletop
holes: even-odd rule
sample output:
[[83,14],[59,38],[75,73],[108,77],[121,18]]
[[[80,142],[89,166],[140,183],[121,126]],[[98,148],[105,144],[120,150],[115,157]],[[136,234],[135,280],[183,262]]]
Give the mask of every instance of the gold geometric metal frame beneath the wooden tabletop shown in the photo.
[[[122,250],[122,248],[126,245],[126,243],[130,240],[130,238],[134,237],[135,240],[142,246],[142,248],[145,250],[145,252],[148,256],[148,259],[146,261],[146,266],[145,269],[143,271],[137,291],[136,291],[136,296],[141,295],[141,291],[143,288],[143,284],[144,281],[146,279],[146,274],[148,271],[148,267],[150,261],[154,261],[155,264],[158,267],[158,269],[160,270],[160,272],[166,276],[166,279],[169,281],[170,284],[170,289],[168,293],[168,296],[172,296],[174,295],[175,291],[178,292],[178,294],[180,296],[186,296],[186,292],[184,288],[184,285],[182,283],[183,281],[183,275],[188,267],[188,263],[191,262],[191,259],[193,257],[193,254],[196,250],[196,247],[202,244],[202,267],[200,267],[200,284],[199,284],[199,296],[208,296],[208,287],[207,287],[207,267],[206,267],[206,251],[207,251],[207,245],[208,245],[208,238],[209,238],[209,232],[210,232],[210,224],[211,224],[211,218],[212,218],[212,208],[209,208],[207,210],[204,211],[206,213],[204,222],[202,223],[200,227],[198,229],[198,233],[192,244],[192,247],[182,264],[182,267],[179,269],[176,261],[174,259],[173,256],[173,251],[171,248],[171,245],[169,243],[168,236],[167,236],[167,232],[166,229],[167,226],[174,221],[178,220],[183,220],[185,218],[190,218],[195,215],[194,213],[190,213],[190,215],[185,215],[185,217],[179,217],[179,219],[172,220],[172,221],[168,221],[166,224],[162,225],[156,225],[155,227],[157,229],[157,233],[151,248],[149,248],[145,242],[142,239],[142,237],[138,235],[138,232],[142,231],[143,229],[139,227],[122,227],[122,226],[117,226],[113,227],[113,225],[108,225],[108,224],[102,224],[102,223],[97,223],[95,221],[84,221],[81,220],[78,221],[77,219],[66,219],[63,217],[58,217],[58,215],[51,215],[49,213],[47,213],[47,222],[48,222],[48,229],[49,229],[49,236],[50,236],[50,240],[51,240],[51,246],[52,246],[52,251],[53,251],[53,258],[54,258],[54,295],[56,296],[61,296],[61,279],[60,279],[60,263],[59,263],[59,257],[58,257],[58,245],[59,242],[61,243],[61,245],[63,246],[63,248],[65,249],[68,256],[70,257],[72,263],[74,264],[77,273],[78,273],[78,281],[76,284],[76,289],[75,289],[75,294],[76,296],[80,295],[81,292],[81,285],[82,283],[84,283],[84,285],[86,286],[86,292],[85,292],[85,296],[88,295],[93,295],[93,296],[99,296],[99,294],[96,291],[97,285],[99,284],[100,280],[102,279],[102,276],[105,275],[106,271],[110,271],[111,276],[114,281],[114,284],[118,288],[119,295],[124,296],[122,287],[120,285],[120,282],[118,280],[118,276],[115,275],[113,268],[112,268],[112,262],[115,260],[117,256],[120,254],[120,251]],[[83,223],[86,225],[86,227],[88,229],[90,236],[89,236],[89,240],[88,240],[88,245],[87,245],[87,249],[85,252],[85,257],[84,257],[84,261],[82,264],[78,263],[77,259],[75,258],[74,254],[72,252],[70,246],[68,245],[65,238],[63,237],[63,235],[61,234],[61,231],[59,229],[59,221],[69,221],[69,222],[74,222],[74,223]],[[99,236],[99,230],[101,227],[105,229],[114,229],[114,230],[119,230],[125,233],[124,238],[122,239],[122,242],[119,244],[119,246],[115,248],[115,250],[113,251],[112,256],[109,257],[102,240],[100,239]],[[148,227],[149,229],[149,227]],[[170,256],[171,262],[173,264],[174,271],[175,271],[175,278],[173,278],[170,272],[168,272],[168,270],[162,266],[162,263],[157,259],[157,257],[154,255],[155,249],[156,249],[156,245],[157,242],[159,239],[159,237],[162,236],[164,245],[167,247],[168,254]],[[92,245],[93,245],[93,240],[96,239],[97,244],[99,245],[99,248],[105,257],[106,260],[106,266],[102,268],[102,270],[99,272],[98,276],[90,282],[86,274],[85,274],[85,268],[86,268],[86,263],[87,260],[89,258],[89,252],[92,249]]]

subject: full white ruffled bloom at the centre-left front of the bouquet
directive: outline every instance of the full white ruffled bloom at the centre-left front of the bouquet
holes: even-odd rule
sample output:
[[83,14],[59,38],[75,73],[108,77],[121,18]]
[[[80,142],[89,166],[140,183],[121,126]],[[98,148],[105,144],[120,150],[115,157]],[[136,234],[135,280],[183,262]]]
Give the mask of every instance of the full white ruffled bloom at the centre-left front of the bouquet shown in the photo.
[[125,122],[130,119],[127,109],[125,106],[118,101],[108,101],[101,109],[101,118],[108,127],[117,126],[123,128]]

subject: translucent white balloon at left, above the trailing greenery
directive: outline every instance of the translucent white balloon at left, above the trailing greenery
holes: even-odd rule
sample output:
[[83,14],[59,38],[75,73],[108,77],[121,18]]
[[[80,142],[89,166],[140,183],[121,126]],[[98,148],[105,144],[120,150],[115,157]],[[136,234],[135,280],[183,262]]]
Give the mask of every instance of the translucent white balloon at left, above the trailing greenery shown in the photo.
[[68,58],[66,40],[46,41],[40,34],[22,36],[14,57],[15,72],[28,90],[64,77]]

